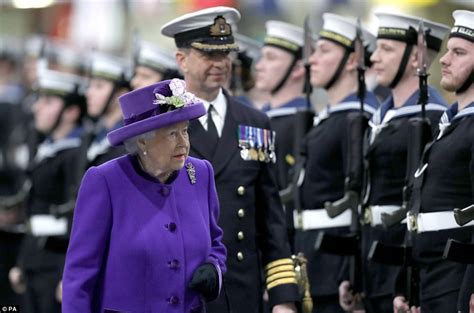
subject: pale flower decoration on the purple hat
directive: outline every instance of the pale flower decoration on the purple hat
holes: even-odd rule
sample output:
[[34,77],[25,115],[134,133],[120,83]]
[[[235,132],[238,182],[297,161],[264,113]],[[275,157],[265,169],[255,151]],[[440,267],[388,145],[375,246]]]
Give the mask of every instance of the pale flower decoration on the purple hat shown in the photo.
[[194,94],[186,91],[186,82],[181,79],[174,78],[169,83],[172,96],[165,96],[160,93],[155,93],[156,100],[154,104],[167,107],[166,111],[182,108],[188,104],[198,102]]

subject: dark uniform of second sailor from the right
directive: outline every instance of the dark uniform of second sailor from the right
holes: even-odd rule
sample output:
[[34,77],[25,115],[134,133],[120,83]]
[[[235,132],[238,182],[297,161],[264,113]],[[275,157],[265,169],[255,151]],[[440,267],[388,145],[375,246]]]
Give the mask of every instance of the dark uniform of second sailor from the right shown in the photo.
[[[369,255],[372,242],[378,240],[388,245],[401,245],[405,240],[406,224],[397,224],[386,230],[380,223],[374,223],[372,210],[375,206],[393,206],[399,209],[402,205],[402,191],[405,185],[407,167],[407,149],[409,119],[419,117],[421,106],[417,104],[419,92],[415,92],[402,107],[395,109],[395,115],[385,122],[386,113],[394,109],[393,98],[389,97],[372,117],[370,125],[370,143],[366,154],[368,161],[369,187],[366,194],[366,225],[362,230],[362,250],[364,259]],[[430,104],[426,106],[426,117],[430,120],[432,132],[435,133],[437,121],[446,109],[441,95],[429,88]],[[371,225],[371,223],[374,223]],[[387,266],[376,262],[364,263],[365,292],[373,312],[393,310],[392,299],[398,267]]]

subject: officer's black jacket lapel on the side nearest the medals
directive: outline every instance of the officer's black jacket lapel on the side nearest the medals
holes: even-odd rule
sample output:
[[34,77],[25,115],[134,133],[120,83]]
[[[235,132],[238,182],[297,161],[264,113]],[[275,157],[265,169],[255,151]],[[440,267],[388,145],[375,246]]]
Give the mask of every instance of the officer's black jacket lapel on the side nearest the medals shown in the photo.
[[212,166],[214,167],[215,176],[217,176],[230,161],[232,156],[239,154],[238,139],[237,139],[237,125],[236,109],[238,109],[235,102],[227,96],[227,113],[224,121],[224,128],[222,129],[222,136],[216,148],[214,157],[212,158]]

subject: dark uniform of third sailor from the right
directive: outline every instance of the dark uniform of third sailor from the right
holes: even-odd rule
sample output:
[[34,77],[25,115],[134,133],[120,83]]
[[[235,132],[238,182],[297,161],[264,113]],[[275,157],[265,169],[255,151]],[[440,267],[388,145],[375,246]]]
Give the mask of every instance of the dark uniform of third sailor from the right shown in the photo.
[[[367,94],[365,103],[369,114],[372,114],[378,105],[372,93]],[[341,103],[320,112],[316,125],[305,137],[303,145],[307,151],[307,159],[305,177],[300,187],[303,214],[307,210],[324,210],[326,201],[333,202],[343,197],[344,179],[348,171],[348,114],[357,110],[360,110],[360,104],[357,95],[353,93]],[[298,229],[295,223],[295,250],[304,252],[308,258],[308,275],[315,312],[318,312],[319,306],[325,307],[327,311],[324,312],[343,312],[338,304],[338,287],[339,279],[347,278],[347,273],[341,273],[345,258],[316,251],[314,246],[320,232],[347,235],[349,225],[350,219],[340,227],[302,230]]]

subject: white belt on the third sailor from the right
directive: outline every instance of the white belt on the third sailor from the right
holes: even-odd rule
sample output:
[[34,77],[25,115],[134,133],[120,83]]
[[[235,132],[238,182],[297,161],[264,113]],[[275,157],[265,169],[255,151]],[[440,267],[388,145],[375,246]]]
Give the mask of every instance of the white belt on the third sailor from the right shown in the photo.
[[346,210],[335,218],[330,218],[326,209],[293,211],[293,221],[295,228],[301,230],[350,226],[352,211]]

